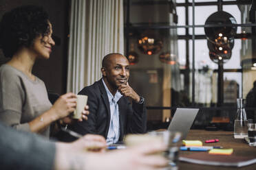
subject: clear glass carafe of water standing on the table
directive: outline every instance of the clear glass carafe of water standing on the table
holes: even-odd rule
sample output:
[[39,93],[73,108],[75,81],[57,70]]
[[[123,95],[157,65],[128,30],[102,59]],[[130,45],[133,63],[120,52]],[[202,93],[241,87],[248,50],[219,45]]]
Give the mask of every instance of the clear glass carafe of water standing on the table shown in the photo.
[[248,137],[247,117],[245,111],[245,99],[237,99],[237,117],[234,122],[234,138]]

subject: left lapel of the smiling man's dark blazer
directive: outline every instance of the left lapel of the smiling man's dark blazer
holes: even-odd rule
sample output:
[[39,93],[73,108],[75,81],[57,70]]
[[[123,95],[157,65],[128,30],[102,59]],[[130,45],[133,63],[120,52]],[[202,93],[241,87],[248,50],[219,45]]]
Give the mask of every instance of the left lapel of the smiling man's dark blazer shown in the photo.
[[109,132],[109,124],[110,124],[110,117],[111,117],[111,114],[110,114],[110,107],[109,107],[109,98],[107,97],[107,91],[105,89],[105,86],[103,84],[103,79],[100,79],[98,81],[98,87],[100,88],[100,93],[101,93],[101,97],[103,99],[103,103],[105,104],[105,107],[107,108],[107,130],[106,130],[106,136],[107,136],[107,133]]

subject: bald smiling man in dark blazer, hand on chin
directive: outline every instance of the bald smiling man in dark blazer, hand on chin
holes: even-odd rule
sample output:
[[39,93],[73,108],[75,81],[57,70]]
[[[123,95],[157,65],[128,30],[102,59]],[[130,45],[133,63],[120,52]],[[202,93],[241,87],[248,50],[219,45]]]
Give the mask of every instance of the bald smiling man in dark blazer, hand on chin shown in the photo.
[[[87,121],[72,125],[80,134],[100,134],[107,144],[123,140],[125,134],[146,132],[145,101],[129,86],[129,62],[120,53],[103,58],[103,78],[78,94],[88,96]],[[132,101],[132,104],[131,102]]]

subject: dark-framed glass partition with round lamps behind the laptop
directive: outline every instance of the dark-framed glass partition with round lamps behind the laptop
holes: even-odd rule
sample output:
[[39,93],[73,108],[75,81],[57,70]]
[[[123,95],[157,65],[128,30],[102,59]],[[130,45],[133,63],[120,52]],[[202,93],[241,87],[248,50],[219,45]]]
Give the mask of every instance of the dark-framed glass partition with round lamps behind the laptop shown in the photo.
[[[200,114],[194,127],[217,123],[230,128],[239,97],[248,99],[247,110],[255,117],[251,112],[256,110],[256,24],[250,5],[125,1],[130,82],[146,98],[148,121],[166,123],[175,108],[196,107]],[[214,13],[219,17],[209,19]]]

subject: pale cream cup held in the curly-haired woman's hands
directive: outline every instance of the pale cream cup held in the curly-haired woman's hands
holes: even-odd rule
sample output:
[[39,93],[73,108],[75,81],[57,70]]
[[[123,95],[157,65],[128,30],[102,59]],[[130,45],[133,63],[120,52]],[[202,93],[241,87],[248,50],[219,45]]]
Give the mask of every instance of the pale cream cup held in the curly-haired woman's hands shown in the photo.
[[85,109],[85,106],[87,104],[87,95],[76,95],[76,110],[74,110],[73,119],[81,119],[82,118],[82,112]]

